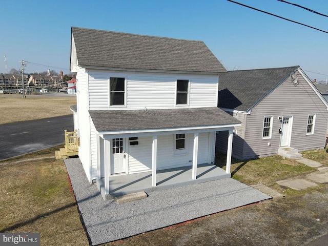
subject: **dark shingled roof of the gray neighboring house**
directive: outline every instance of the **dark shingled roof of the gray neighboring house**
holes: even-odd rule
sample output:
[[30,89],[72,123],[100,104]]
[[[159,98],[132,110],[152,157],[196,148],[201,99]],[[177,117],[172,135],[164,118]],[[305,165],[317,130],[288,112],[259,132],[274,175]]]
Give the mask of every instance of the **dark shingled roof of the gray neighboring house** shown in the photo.
[[219,107],[248,111],[299,67],[228,71],[219,78]]

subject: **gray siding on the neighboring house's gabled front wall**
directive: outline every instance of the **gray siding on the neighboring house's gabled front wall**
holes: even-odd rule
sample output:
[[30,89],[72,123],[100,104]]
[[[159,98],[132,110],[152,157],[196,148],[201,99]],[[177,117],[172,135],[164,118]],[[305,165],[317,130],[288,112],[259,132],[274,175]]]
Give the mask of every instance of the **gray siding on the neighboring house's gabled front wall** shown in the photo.
[[[298,74],[299,84],[295,86],[286,79],[270,95],[264,98],[247,117],[247,131],[243,158],[272,155],[278,152],[280,144],[278,116],[293,116],[291,147],[300,151],[324,148],[327,128],[327,111],[320,98]],[[313,135],[306,135],[309,114],[316,114]],[[273,116],[271,139],[262,139],[263,117]],[[270,142],[271,146],[268,146]]]

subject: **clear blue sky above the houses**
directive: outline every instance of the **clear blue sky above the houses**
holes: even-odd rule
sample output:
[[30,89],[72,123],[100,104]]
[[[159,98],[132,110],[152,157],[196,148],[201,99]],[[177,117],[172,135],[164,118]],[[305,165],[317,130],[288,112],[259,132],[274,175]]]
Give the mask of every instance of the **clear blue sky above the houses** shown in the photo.
[[[328,17],[277,0],[235,1],[328,31]],[[326,0],[286,1],[328,15]],[[23,59],[26,72],[69,73],[74,26],[202,40],[227,70],[299,65],[311,79],[328,77],[327,33],[226,0],[10,0],[1,9],[0,73],[4,55],[8,70]]]

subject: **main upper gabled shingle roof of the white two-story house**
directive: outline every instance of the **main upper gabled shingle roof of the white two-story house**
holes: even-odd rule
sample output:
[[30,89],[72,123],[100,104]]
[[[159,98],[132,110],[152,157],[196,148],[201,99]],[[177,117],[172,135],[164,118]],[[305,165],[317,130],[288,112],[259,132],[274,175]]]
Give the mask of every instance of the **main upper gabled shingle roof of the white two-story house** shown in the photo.
[[82,66],[227,72],[202,41],[72,27]]

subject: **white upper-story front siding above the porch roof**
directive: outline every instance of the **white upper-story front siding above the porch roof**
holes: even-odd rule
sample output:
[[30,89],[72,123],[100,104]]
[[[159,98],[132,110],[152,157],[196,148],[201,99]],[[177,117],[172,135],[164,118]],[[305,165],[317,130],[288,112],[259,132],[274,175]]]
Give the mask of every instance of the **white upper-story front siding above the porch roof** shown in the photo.
[[216,107],[217,75],[188,75],[189,105],[176,105],[176,83],[183,74],[90,70],[90,110],[117,110],[110,106],[110,77],[126,78],[126,107],[119,109],[169,109],[176,107]]

